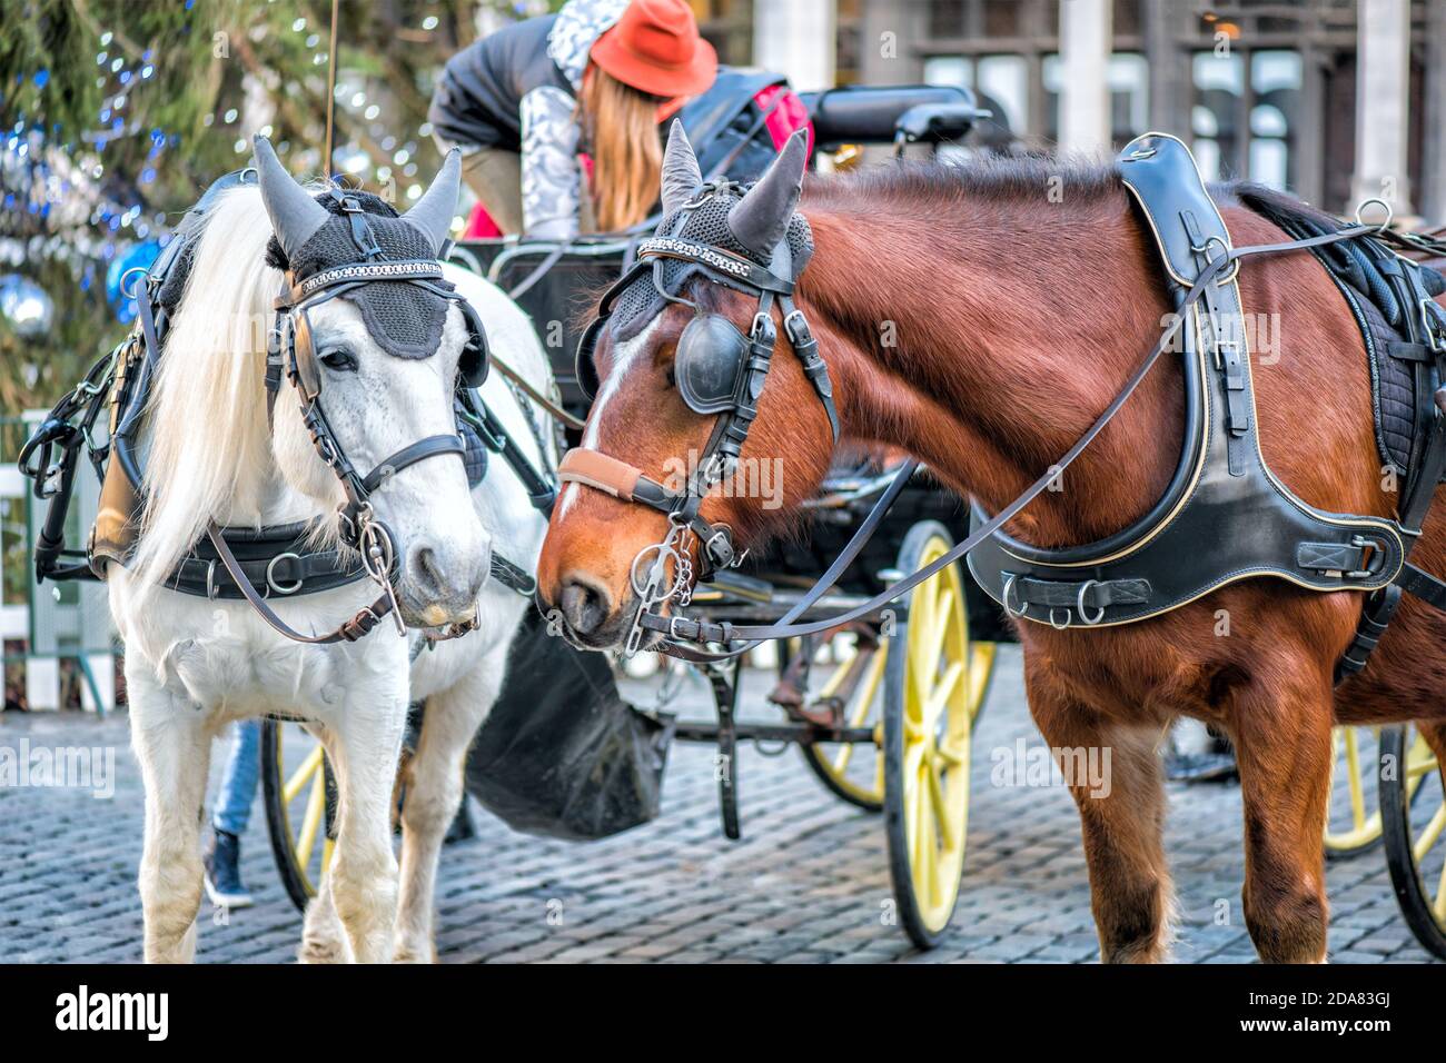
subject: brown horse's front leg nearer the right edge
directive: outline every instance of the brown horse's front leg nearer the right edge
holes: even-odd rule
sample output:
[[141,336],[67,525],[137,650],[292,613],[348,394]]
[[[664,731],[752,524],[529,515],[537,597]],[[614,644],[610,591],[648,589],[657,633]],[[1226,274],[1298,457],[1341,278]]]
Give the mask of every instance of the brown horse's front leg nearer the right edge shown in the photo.
[[1330,788],[1330,683],[1252,681],[1231,699],[1245,804],[1245,926],[1267,963],[1326,959],[1322,836]]

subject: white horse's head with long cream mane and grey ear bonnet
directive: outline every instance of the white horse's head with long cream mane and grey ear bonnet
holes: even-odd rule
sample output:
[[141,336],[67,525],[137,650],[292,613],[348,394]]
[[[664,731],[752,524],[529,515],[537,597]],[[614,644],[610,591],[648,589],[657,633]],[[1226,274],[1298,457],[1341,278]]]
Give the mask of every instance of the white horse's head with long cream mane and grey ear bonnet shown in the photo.
[[[285,283],[276,266],[294,270],[299,282],[347,265],[328,257],[348,257],[335,246],[335,227],[350,220],[292,181],[260,140],[256,165],[260,197],[253,189],[230,192],[208,217],[166,341],[136,565],[147,583],[165,577],[208,519],[265,524],[278,522],[278,511],[292,519],[334,515],[347,500],[305,427],[301,390],[288,380],[281,382],[268,430],[263,372],[270,301]],[[458,169],[450,158],[401,218],[367,214],[388,259],[437,257],[457,202]],[[362,257],[356,249],[350,260]],[[405,283],[369,282],[311,305],[305,317],[317,402],[357,476],[383,469],[419,440],[455,434],[453,392],[469,328],[454,302]],[[490,539],[460,457],[399,463],[385,471],[369,502],[396,548],[402,619],[414,626],[469,619],[490,567]],[[337,525],[328,532],[340,538]]]

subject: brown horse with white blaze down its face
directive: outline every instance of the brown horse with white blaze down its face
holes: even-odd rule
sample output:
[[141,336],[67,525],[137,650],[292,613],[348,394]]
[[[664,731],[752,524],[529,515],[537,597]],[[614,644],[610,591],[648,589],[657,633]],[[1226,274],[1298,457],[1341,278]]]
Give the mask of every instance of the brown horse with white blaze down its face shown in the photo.
[[[1236,244],[1285,239],[1229,200],[1220,208]],[[991,512],[1089,428],[1168,312],[1151,237],[1111,168],[873,168],[810,179],[800,211],[816,252],[797,304],[829,364],[844,434],[905,448]],[[1246,312],[1278,323],[1278,357],[1252,362],[1270,466],[1314,506],[1392,515],[1362,343],[1326,272],[1291,253],[1246,262],[1241,285]],[[755,298],[709,281],[690,281],[687,294],[745,331],[756,309]],[[603,393],[586,445],[655,479],[669,460],[703,450],[714,418],[694,414],[672,380],[674,344],[690,320],[691,311],[667,305],[625,341],[604,330],[596,349]],[[1157,366],[1064,473],[1063,490],[1041,495],[1011,534],[1047,547],[1090,542],[1147,512],[1180,454],[1183,393],[1178,360]],[[729,524],[743,545],[777,534],[817,489],[830,453],[827,417],[779,333],[743,457],[782,460],[782,506],[714,496],[703,515]],[[558,603],[578,642],[617,644],[636,607],[633,558],[665,528],[661,513],[568,484],[538,567],[544,607]],[[1446,571],[1439,512],[1411,560]],[[1366,671],[1333,687],[1359,618],[1356,592],[1252,579],[1141,623],[1019,625],[1030,710],[1044,738],[1112,749],[1109,795],[1073,790],[1105,960],[1157,960],[1168,950],[1157,751],[1180,714],[1235,742],[1244,913],[1257,950],[1267,960],[1325,959],[1332,725],[1416,719],[1446,754],[1446,618],[1407,602]]]

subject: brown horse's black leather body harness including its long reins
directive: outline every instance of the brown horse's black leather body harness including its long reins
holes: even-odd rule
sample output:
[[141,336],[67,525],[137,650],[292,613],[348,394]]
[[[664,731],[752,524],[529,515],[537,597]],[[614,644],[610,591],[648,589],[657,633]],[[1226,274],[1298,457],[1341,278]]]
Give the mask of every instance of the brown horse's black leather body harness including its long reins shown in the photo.
[[[688,659],[726,659],[763,639],[816,635],[863,619],[963,557],[969,558],[975,579],[1011,615],[1060,629],[1144,620],[1218,587],[1259,576],[1317,592],[1366,592],[1366,609],[1339,665],[1340,675],[1365,667],[1403,590],[1446,609],[1446,581],[1407,561],[1434,484],[1446,471],[1446,389],[1442,389],[1446,312],[1429,298],[1413,307],[1417,315],[1413,336],[1420,337],[1427,353],[1423,360],[1429,357],[1434,370],[1430,377],[1434,402],[1424,425],[1421,461],[1397,518],[1329,513],[1290,492],[1261,456],[1236,283],[1241,262],[1248,256],[1368,239],[1403,246],[1411,242],[1385,231],[1384,226],[1358,223],[1280,244],[1233,247],[1180,140],[1160,133],[1138,137],[1118,162],[1155,237],[1177,317],[1103,414],[1047,473],[993,516],[975,508],[972,534],[927,567],[842,613],[797,622],[839,580],[878,528],[917,469],[917,463],[907,461],[836,561],[778,622],[732,625],[662,616],[649,607],[652,603],[643,603],[633,631],[662,636],[667,652]],[[1401,256],[1392,259],[1400,262],[1403,275],[1420,269]],[[1419,276],[1414,283],[1424,294]],[[756,288],[762,295],[762,286]],[[1005,534],[1004,525],[1047,490],[1099,435],[1177,337],[1186,370],[1186,432],[1177,471],[1163,498],[1131,526],[1080,547],[1041,550]],[[758,389],[749,393],[750,405],[756,404],[756,393]],[[648,505],[661,508],[659,502]],[[694,648],[700,645],[714,649]]]

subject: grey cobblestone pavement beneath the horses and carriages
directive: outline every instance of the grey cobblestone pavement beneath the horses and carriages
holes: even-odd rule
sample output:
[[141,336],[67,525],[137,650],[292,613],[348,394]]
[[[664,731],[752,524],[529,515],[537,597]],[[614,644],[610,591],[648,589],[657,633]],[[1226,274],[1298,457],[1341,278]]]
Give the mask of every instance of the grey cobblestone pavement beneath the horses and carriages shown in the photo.
[[[766,681],[745,686],[752,714]],[[636,691],[635,691],[636,693]],[[636,693],[641,700],[646,690]],[[701,681],[684,691],[690,714]],[[0,716],[0,746],[22,738],[116,749],[114,800],[80,790],[0,790],[0,960],[140,956],[142,791],[123,716]],[[675,746],[655,823],[594,843],[509,832],[476,810],[479,836],[442,853],[444,962],[1084,962],[1098,956],[1073,803],[1058,787],[991,787],[991,752],[1040,745],[1019,657],[1008,646],[979,726],[969,852],[943,944],[920,953],[889,924],[881,817],[817,782],[794,751],[749,748],[739,764],[743,840],[719,830],[711,751]],[[218,749],[217,754],[221,751]],[[213,785],[218,769],[213,771]],[[1241,801],[1233,785],[1171,787],[1168,852],[1180,894],[1176,957],[1254,957],[1239,914]],[[201,962],[286,962],[301,917],[270,863],[257,807],[244,874],[254,908],[201,914]],[[1426,962],[1406,928],[1379,849],[1327,869],[1336,962]],[[560,917],[560,918],[558,918]],[[1222,924],[1223,923],[1223,924]]]

